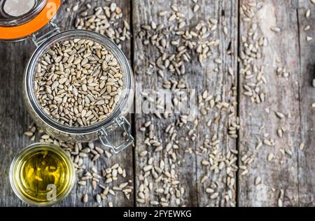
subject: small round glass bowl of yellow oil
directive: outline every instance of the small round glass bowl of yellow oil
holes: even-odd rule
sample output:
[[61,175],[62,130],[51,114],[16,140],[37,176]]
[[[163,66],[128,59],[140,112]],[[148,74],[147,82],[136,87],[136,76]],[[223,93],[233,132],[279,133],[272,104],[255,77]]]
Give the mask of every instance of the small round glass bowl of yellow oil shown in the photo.
[[75,182],[76,171],[71,158],[62,148],[52,144],[29,145],[10,166],[13,192],[30,206],[59,203],[69,195]]

